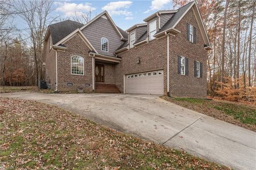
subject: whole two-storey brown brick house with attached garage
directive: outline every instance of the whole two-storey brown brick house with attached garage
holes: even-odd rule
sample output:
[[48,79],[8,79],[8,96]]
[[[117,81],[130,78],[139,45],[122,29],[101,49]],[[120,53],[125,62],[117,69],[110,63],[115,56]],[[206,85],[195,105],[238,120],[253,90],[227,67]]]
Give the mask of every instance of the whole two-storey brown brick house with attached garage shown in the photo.
[[206,97],[211,44],[196,2],[158,11],[126,31],[107,11],[49,25],[45,79],[55,91]]

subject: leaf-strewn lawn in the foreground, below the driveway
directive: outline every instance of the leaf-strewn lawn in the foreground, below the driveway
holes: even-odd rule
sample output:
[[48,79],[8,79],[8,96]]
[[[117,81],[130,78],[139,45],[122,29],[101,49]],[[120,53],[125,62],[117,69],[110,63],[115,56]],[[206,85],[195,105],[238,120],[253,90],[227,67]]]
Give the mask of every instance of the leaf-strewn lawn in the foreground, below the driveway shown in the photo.
[[0,169],[229,169],[57,106],[0,101]]

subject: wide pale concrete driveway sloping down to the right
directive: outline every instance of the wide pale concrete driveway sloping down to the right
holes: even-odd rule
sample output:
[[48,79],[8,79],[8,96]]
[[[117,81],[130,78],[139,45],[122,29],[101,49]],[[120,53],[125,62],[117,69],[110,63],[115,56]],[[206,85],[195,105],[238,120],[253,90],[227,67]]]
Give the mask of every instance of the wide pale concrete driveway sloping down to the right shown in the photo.
[[37,100],[85,115],[118,131],[235,169],[256,169],[256,133],[169,103],[153,95],[40,94],[2,97]]

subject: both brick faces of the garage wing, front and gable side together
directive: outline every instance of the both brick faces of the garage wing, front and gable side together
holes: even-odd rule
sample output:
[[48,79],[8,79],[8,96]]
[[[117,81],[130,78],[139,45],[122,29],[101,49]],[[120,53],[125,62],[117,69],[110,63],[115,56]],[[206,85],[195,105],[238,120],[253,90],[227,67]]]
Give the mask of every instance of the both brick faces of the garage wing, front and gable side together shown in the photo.
[[[187,40],[187,22],[197,28],[196,44]],[[206,97],[206,60],[204,41],[196,22],[193,10],[190,10],[175,27],[181,33],[170,36],[170,95],[173,97]],[[122,57],[121,63],[116,65],[116,85],[123,92],[123,75],[150,70],[164,69],[164,94],[167,94],[167,38],[154,39],[148,44],[132,48],[118,54]],[[178,74],[178,55],[189,60],[188,75]],[[140,57],[141,63],[136,60]],[[194,77],[194,61],[203,63],[203,77]]]

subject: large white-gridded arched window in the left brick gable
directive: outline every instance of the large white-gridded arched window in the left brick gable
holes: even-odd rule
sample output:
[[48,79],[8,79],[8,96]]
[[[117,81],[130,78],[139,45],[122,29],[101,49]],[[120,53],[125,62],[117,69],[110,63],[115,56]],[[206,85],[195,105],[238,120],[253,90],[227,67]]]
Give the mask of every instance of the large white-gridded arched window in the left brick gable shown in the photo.
[[82,56],[71,56],[71,74],[84,75],[84,58]]

